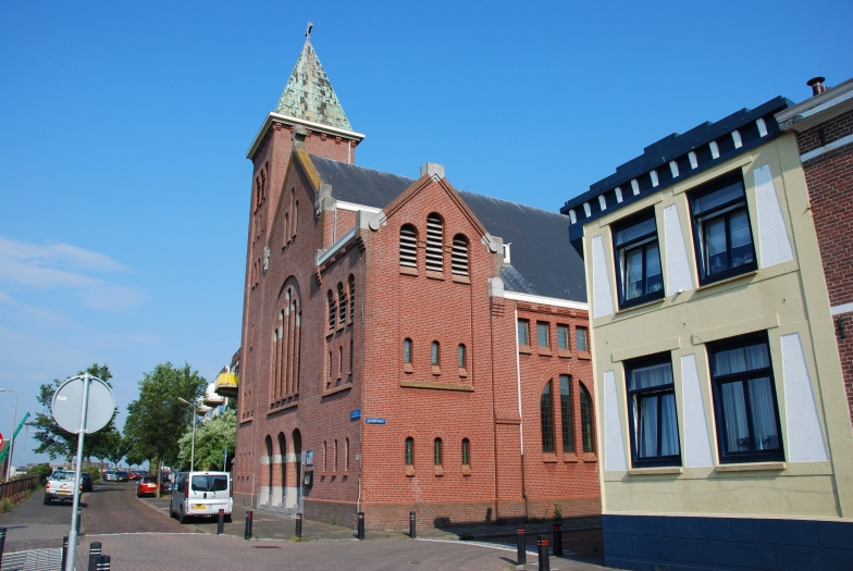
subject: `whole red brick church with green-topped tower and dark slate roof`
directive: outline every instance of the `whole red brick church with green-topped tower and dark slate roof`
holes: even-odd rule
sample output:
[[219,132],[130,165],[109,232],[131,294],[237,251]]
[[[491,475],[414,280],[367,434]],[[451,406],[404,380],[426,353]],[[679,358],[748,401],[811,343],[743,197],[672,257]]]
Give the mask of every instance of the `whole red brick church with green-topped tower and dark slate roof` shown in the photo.
[[310,39],[254,164],[237,504],[368,529],[601,513],[583,262],[554,212],[356,166]]

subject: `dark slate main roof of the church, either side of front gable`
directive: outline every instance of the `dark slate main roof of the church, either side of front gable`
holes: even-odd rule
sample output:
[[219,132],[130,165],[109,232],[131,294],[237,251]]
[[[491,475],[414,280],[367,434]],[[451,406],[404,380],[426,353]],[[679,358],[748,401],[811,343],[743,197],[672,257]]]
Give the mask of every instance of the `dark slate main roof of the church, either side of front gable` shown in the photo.
[[[311,156],[320,178],[339,200],[384,208],[415,178]],[[510,244],[500,270],[508,291],[586,302],[583,260],[569,243],[569,220],[556,212],[466,190],[465,200],[490,234]]]

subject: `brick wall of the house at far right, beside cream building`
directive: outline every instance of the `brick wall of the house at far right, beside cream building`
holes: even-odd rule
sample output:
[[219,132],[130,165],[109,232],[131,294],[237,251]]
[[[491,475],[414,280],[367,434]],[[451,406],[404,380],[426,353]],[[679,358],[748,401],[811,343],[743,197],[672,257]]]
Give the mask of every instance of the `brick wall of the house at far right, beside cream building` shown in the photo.
[[[801,153],[853,134],[853,111],[796,134]],[[820,257],[826,274],[829,305],[853,303],[853,144],[824,152],[803,162]],[[844,387],[853,419],[853,311],[835,311]],[[839,320],[841,320],[839,322]],[[841,330],[844,334],[842,338]]]

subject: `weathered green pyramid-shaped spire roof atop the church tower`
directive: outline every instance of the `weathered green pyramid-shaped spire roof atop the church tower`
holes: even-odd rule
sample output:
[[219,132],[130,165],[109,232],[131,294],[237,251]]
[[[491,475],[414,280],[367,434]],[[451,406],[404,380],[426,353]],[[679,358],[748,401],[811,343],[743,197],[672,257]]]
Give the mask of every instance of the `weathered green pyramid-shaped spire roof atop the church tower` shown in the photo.
[[310,39],[305,41],[273,112],[353,131]]

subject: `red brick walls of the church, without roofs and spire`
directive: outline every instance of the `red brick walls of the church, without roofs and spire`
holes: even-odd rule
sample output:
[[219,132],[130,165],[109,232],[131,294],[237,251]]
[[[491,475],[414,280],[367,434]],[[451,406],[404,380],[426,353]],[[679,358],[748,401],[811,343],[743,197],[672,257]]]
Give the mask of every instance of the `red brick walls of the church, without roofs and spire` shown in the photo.
[[[490,296],[502,255],[445,179],[415,182],[385,207],[375,231],[368,212],[327,208],[308,153],[346,161],[347,144],[312,134],[294,150],[292,129],[279,126],[252,158],[235,500],[288,508],[298,493],[306,518],[354,526],[361,509],[368,529],[405,527],[409,510],[423,526],[549,518],[555,507],[565,517],[599,513],[592,412],[585,433],[582,425],[592,368],[576,339],[586,312]],[[433,213],[443,225],[441,271],[425,262]],[[404,224],[417,229],[417,268],[399,263]],[[318,265],[318,250],[354,227],[355,237]],[[452,244],[461,236],[468,275],[452,271]],[[530,323],[520,351],[517,315]],[[537,322],[547,324],[547,347]],[[569,342],[565,350],[558,337]],[[569,375],[566,414],[560,375]],[[302,467],[308,451],[312,466]],[[298,491],[302,470],[312,471],[313,485]]]

